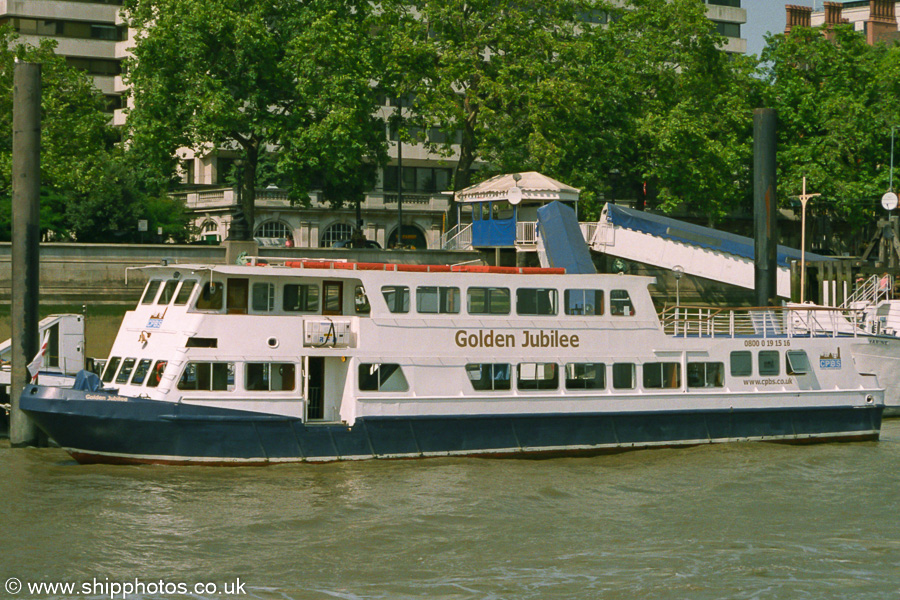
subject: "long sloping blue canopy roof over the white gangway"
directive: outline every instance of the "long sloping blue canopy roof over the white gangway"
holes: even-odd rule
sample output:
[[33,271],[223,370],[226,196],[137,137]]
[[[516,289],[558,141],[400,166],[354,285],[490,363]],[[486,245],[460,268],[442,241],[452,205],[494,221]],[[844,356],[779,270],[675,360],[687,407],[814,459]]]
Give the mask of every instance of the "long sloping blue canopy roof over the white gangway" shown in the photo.
[[[654,215],[633,208],[626,208],[616,204],[606,205],[606,214],[609,221],[617,226],[633,231],[655,235],[660,238],[675,240],[691,246],[699,246],[710,250],[727,252],[743,258],[753,260],[756,255],[756,246],[753,238],[736,235],[702,227],[693,223],[678,221],[662,215]],[[800,251],[787,246],[778,246],[777,263],[782,267],[789,267],[792,260],[800,260]],[[821,254],[806,253],[807,261],[834,260]]]

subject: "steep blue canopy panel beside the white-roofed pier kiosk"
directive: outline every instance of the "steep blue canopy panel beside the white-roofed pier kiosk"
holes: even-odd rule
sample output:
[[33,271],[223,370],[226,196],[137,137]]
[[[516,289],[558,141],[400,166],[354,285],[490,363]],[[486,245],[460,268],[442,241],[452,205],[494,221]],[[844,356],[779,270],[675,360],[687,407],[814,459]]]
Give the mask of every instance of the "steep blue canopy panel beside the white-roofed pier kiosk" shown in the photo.
[[550,267],[563,267],[566,273],[596,273],[591,252],[575,211],[562,202],[551,202],[538,209],[538,227]]

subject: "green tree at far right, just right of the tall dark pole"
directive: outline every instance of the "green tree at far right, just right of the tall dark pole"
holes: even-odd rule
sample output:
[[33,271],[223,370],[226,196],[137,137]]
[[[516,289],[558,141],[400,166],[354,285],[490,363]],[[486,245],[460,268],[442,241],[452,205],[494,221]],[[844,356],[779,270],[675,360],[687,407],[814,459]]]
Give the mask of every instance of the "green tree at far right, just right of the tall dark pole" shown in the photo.
[[778,195],[791,202],[805,176],[822,194],[819,210],[859,225],[889,186],[900,48],[869,46],[848,25],[824,34],[794,28],[762,54],[767,104],[778,113]]

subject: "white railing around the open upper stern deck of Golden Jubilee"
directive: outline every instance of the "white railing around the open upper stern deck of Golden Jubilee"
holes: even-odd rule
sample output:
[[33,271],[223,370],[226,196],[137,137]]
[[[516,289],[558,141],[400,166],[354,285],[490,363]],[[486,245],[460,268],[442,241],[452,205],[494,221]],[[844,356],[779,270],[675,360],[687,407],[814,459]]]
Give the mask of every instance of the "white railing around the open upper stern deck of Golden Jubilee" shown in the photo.
[[709,308],[674,306],[660,314],[663,331],[676,337],[856,337],[860,311],[840,308]]

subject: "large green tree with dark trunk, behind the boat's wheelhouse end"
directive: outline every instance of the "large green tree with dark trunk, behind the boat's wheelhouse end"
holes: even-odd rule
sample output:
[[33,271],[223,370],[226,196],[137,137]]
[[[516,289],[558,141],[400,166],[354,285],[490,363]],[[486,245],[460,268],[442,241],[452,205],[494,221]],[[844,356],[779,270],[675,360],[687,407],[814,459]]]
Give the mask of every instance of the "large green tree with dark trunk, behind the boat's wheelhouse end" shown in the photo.
[[237,151],[245,237],[266,151],[278,151],[295,199],[316,188],[336,205],[358,199],[374,183],[368,165],[386,157],[370,85],[371,9],[358,0],[126,0],[136,30],[131,144],[161,180],[179,147]]

